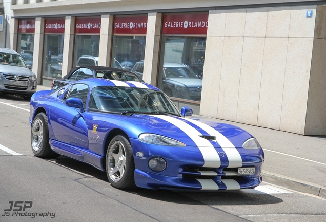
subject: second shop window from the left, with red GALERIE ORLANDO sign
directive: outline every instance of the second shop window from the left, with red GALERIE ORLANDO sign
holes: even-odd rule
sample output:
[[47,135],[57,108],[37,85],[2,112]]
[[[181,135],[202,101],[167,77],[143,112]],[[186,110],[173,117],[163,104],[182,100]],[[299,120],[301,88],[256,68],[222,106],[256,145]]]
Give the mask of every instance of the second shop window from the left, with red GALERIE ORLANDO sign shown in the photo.
[[53,79],[62,77],[65,19],[45,21],[42,85],[50,86]]

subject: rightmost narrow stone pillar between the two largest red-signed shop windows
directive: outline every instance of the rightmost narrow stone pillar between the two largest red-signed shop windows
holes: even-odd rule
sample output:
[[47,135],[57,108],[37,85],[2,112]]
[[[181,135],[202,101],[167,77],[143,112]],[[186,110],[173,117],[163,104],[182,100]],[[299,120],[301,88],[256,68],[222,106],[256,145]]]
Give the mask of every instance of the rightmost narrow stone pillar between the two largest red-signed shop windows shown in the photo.
[[157,83],[161,21],[161,13],[148,13],[144,74],[142,79],[152,85]]

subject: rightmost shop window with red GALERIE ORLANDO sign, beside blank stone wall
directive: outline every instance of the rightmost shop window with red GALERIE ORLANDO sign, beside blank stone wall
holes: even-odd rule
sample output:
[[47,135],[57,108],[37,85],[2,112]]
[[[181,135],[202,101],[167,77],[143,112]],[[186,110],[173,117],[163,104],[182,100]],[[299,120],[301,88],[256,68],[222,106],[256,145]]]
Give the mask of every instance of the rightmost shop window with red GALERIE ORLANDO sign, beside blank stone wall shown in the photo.
[[164,15],[162,24],[158,87],[200,101],[208,14]]

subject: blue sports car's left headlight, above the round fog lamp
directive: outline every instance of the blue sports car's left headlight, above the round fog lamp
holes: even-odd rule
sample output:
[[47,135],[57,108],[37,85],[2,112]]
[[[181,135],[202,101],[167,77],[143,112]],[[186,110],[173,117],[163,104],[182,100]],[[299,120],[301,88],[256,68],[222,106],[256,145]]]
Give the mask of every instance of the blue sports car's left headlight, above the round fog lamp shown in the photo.
[[140,134],[139,140],[149,144],[184,147],[186,144],[157,134]]

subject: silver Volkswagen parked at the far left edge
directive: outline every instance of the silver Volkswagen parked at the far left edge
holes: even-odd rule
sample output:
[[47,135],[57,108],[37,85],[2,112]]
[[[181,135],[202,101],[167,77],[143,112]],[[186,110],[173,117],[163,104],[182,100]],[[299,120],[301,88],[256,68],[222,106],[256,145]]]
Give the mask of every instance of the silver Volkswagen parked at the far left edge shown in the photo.
[[22,95],[30,100],[37,89],[32,66],[12,49],[0,48],[0,93]]

